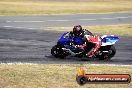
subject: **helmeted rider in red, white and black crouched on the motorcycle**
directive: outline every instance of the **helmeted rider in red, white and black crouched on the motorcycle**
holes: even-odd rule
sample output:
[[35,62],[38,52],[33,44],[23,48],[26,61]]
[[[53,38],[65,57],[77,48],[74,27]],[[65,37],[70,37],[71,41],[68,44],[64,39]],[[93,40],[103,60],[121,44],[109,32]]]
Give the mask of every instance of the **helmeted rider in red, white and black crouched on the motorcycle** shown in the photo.
[[[89,32],[85,29],[82,29],[81,25],[75,25],[73,27],[73,31],[70,32],[70,35],[72,37],[79,36],[82,38],[83,45],[81,45],[81,47],[79,46],[80,48],[84,48],[86,46],[87,41],[86,41],[85,35],[88,35],[88,34],[90,35],[89,38],[92,38],[93,40],[97,40],[95,45],[92,46],[92,49],[90,50],[90,52],[88,52],[88,57],[92,58],[94,56],[95,52],[100,48],[100,45],[101,45],[101,40],[98,41],[98,39],[99,39],[98,36],[94,36],[91,32]],[[87,55],[87,52],[84,51],[84,53]]]

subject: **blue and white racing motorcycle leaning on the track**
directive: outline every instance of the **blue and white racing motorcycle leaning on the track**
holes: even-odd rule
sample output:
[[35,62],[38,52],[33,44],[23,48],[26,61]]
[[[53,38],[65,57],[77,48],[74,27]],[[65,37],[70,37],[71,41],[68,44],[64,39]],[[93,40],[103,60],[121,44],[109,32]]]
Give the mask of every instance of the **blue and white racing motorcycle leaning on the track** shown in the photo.
[[[52,47],[51,54],[56,58],[65,58],[69,55],[82,58],[88,57],[86,53],[89,53],[93,47],[95,47],[95,43],[92,41],[93,38],[99,37],[101,39],[101,46],[95,52],[94,57],[98,58],[99,60],[110,60],[116,54],[116,49],[114,44],[119,40],[118,36],[115,35],[93,35],[90,31],[86,30],[86,46],[85,48],[78,48],[74,45],[81,46],[83,45],[82,38],[76,36],[74,38],[70,37],[70,32],[64,33],[58,40],[57,44]],[[94,39],[95,40],[95,39]],[[98,41],[98,40],[96,40]],[[74,46],[74,47],[73,47]],[[86,53],[83,53],[86,52]]]

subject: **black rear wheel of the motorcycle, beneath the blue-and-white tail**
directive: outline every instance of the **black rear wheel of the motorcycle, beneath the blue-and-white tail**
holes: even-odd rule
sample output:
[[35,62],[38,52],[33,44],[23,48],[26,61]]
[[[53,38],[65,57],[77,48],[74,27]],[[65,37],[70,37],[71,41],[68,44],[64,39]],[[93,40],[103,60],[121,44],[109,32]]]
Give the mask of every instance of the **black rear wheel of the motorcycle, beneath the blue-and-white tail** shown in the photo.
[[113,45],[106,46],[105,50],[107,50],[108,53],[103,53],[102,55],[98,55],[97,58],[99,58],[99,60],[110,60],[116,54],[116,49]]

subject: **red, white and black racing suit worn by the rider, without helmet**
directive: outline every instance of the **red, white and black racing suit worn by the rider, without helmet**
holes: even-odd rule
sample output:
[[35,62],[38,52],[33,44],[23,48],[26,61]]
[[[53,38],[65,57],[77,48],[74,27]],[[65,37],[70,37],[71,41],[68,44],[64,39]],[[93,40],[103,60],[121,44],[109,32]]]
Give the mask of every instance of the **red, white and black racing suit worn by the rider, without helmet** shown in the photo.
[[[87,35],[87,36],[85,36]],[[99,36],[94,36],[90,31],[83,29],[81,30],[80,35],[75,35],[73,32],[69,33],[69,36],[74,38],[75,36],[78,36],[82,39],[83,44],[82,45],[76,45],[74,43],[74,46],[77,48],[83,49],[83,54],[88,56],[89,58],[92,58],[95,54],[95,52],[100,48],[101,46],[101,38]],[[90,42],[90,43],[89,43]],[[91,47],[89,47],[91,46]],[[90,50],[88,50],[88,48]],[[89,52],[87,52],[89,51]]]

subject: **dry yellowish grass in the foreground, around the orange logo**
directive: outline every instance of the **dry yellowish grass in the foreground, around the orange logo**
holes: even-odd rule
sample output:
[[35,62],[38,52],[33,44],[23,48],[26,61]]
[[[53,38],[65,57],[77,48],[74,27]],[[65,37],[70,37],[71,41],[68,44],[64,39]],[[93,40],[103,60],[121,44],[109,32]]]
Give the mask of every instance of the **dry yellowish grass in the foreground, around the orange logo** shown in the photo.
[[[75,77],[80,65],[1,64],[0,88],[80,88]],[[130,74],[131,66],[85,65],[91,74]],[[82,88],[130,88],[130,84],[86,84]]]

